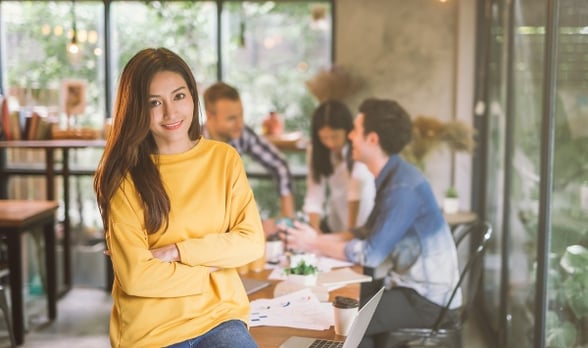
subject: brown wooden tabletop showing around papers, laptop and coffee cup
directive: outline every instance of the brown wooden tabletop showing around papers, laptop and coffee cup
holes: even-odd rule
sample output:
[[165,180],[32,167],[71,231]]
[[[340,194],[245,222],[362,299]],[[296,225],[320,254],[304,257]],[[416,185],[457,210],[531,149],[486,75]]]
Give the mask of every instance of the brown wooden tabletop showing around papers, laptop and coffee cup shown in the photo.
[[[354,269],[357,272],[361,272],[360,266],[356,266],[354,267]],[[261,272],[250,271],[249,273],[245,274],[244,277],[254,279],[267,279],[270,273],[271,270],[264,270]],[[268,287],[265,287],[249,295],[249,300],[253,301],[260,298],[273,298],[276,284],[280,281],[270,281],[271,284]],[[351,298],[359,299],[359,284],[351,284],[340,289],[331,291],[329,293],[329,301],[332,302],[335,299],[335,296],[348,296]],[[277,348],[280,346],[280,344],[284,343],[284,341],[286,341],[290,336],[305,336],[331,340],[343,340],[342,336],[337,336],[335,334],[335,329],[332,326],[330,329],[323,331],[295,329],[290,327],[278,326],[258,326],[252,327],[250,329],[250,332],[260,348]]]

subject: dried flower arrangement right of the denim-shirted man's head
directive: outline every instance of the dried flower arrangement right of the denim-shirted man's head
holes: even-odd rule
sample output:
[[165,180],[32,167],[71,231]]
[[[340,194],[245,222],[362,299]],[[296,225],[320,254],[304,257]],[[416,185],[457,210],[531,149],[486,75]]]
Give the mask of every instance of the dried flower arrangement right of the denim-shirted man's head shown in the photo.
[[428,155],[443,144],[453,152],[472,153],[475,133],[473,127],[459,120],[443,122],[432,116],[417,116],[413,119],[412,141],[402,156],[424,170]]

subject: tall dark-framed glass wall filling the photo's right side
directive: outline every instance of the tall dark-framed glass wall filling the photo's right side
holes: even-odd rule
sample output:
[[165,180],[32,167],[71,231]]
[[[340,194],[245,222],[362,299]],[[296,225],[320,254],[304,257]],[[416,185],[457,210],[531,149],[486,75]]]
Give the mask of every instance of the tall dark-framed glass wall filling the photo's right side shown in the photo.
[[[485,214],[496,224],[497,237],[508,238],[508,243],[496,245],[486,255],[486,305],[491,309],[492,324],[497,319],[499,324],[506,322],[504,327],[498,327],[505,330],[501,332],[505,341],[500,342],[504,346],[543,346],[537,342],[536,333],[540,332],[545,347],[584,347],[588,344],[588,162],[584,159],[588,149],[588,3],[555,2],[559,11],[551,13],[546,11],[546,1],[514,2],[512,13],[510,7],[504,7],[508,1],[491,3],[492,16],[512,16],[514,29],[509,33],[507,21],[494,21],[489,47],[491,52],[502,51],[504,57],[512,57],[513,66],[509,76],[508,69],[495,65],[501,55],[490,54],[490,165],[486,173]],[[494,10],[500,6],[505,8],[504,13]],[[557,70],[556,87],[551,91],[555,93],[553,148],[545,147],[549,138],[543,136],[545,68],[550,63],[544,59],[549,49],[549,15],[557,16],[559,21],[555,28],[557,58],[552,62]],[[513,45],[496,34],[501,32],[514,40]],[[512,107],[505,107],[508,105]],[[547,177],[541,176],[549,175],[541,171],[545,165],[542,161],[548,158],[546,152],[553,158],[549,169],[553,171],[552,196],[546,204],[551,226],[540,228],[546,221],[539,215],[544,197],[541,192],[549,189]],[[507,211],[502,207],[506,204]],[[538,260],[538,255],[543,254],[539,243],[539,233],[543,231],[550,233],[546,237],[548,259]],[[508,260],[508,265],[501,266],[506,278],[492,272],[492,263],[488,262],[494,251]],[[538,273],[538,264],[543,261],[548,268],[546,279]],[[543,303],[536,301],[543,282],[547,286],[544,330],[538,327],[542,321],[537,317]],[[505,291],[499,293],[499,289]],[[500,316],[502,306],[507,312],[504,318]]]

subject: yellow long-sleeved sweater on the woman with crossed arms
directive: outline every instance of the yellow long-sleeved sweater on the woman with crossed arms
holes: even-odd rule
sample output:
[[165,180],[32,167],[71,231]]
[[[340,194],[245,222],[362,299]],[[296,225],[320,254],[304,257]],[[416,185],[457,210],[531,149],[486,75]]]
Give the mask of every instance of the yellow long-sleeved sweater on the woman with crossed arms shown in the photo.
[[[264,236],[239,154],[201,138],[185,153],[159,156],[159,168],[171,201],[165,233],[146,233],[130,177],[111,201],[113,347],[164,347],[227,320],[249,321],[235,267],[262,256]],[[152,257],[149,249],[171,243],[181,262]],[[209,267],[219,270],[209,273]]]

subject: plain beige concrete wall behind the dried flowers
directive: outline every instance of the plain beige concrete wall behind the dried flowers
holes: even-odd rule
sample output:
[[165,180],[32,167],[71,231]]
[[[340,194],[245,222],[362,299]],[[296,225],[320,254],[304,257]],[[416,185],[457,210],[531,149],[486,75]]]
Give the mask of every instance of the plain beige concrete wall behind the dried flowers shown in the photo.
[[[475,36],[472,0],[336,0],[335,64],[362,82],[346,102],[397,100],[413,116],[471,123]],[[470,156],[458,156],[460,208],[470,208]],[[426,174],[439,202],[451,183],[451,157],[439,150]]]

